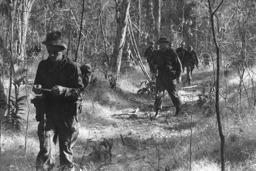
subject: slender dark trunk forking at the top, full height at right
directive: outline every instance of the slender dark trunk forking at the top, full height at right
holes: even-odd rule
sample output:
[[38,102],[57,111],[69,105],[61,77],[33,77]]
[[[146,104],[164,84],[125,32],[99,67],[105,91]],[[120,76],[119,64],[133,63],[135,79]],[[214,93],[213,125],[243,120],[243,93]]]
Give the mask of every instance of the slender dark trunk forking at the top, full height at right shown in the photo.
[[221,1],[219,6],[215,9],[214,12],[212,12],[211,3],[210,0],[208,0],[209,3],[209,11],[210,11],[210,17],[211,17],[211,27],[212,27],[212,35],[213,40],[216,46],[216,55],[217,55],[217,78],[216,78],[216,100],[215,100],[215,107],[216,107],[216,115],[217,115],[217,122],[218,122],[218,128],[219,128],[219,134],[221,138],[221,170],[225,171],[225,158],[224,158],[224,148],[225,148],[225,136],[222,131],[222,124],[221,124],[221,117],[220,117],[220,107],[219,107],[219,92],[220,92],[220,47],[216,40],[215,36],[215,30],[214,30],[214,15],[219,9],[220,5],[223,3],[224,0]]

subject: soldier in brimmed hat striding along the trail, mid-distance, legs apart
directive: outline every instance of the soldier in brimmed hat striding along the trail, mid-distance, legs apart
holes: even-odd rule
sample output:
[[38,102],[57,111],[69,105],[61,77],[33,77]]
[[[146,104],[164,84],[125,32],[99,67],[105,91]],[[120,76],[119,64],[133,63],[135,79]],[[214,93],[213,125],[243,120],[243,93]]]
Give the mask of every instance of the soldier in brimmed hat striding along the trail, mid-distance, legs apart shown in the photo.
[[158,70],[156,77],[156,114],[153,118],[157,118],[160,114],[165,90],[167,90],[173,105],[176,107],[175,115],[181,114],[181,101],[177,94],[176,85],[181,82],[182,66],[176,52],[167,48],[169,43],[167,38],[161,37],[158,42],[160,49],[154,54],[152,61],[153,66]]

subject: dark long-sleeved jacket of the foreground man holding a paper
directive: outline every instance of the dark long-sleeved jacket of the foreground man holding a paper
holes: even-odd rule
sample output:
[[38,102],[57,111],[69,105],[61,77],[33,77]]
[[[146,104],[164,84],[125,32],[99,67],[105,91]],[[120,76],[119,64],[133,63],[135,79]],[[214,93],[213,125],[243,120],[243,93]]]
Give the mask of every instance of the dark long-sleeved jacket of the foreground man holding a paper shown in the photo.
[[43,99],[47,105],[74,104],[83,100],[85,95],[80,67],[70,58],[63,57],[57,70],[50,58],[41,61],[37,68],[34,85],[42,85],[42,88],[49,89],[55,85],[66,88],[66,92],[59,96],[54,96],[51,91],[43,91]]

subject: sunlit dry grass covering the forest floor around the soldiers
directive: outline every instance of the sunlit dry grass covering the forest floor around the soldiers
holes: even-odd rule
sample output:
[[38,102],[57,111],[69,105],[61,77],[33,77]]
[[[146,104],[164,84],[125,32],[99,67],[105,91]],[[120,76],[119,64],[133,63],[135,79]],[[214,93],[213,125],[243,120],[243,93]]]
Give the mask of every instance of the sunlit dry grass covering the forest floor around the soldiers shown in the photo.
[[[174,117],[175,109],[168,107],[163,109],[162,117],[150,121],[149,115],[154,114],[154,97],[137,94],[140,82],[145,80],[142,71],[137,69],[129,75],[122,75],[117,90],[109,88],[108,81],[99,71],[94,73],[95,76],[99,81],[88,88],[83,113],[79,116],[81,128],[74,148],[77,169],[82,164],[81,171],[168,171],[167,168],[170,168],[170,171],[188,171],[193,114],[192,171],[221,170],[220,138],[215,115],[204,118],[202,110],[190,98],[182,107],[184,115]],[[212,79],[212,71],[196,70],[193,76],[195,84],[199,86],[196,91],[194,88],[182,90],[183,95],[186,92],[200,92],[200,83]],[[31,89],[28,93],[32,94]],[[93,96],[93,103],[90,93]],[[235,115],[239,114],[238,112],[234,114],[225,108],[225,101],[221,103],[222,124],[226,137],[226,171],[255,171],[255,113],[238,116]],[[170,105],[171,100],[167,96],[164,107]],[[113,116],[131,112],[136,108],[140,108],[136,115]],[[30,109],[26,153],[26,121],[23,121],[24,127],[20,132],[1,131],[1,171],[35,170],[34,162],[39,145],[36,134],[37,122],[33,119],[34,107],[30,105]],[[24,119],[26,118],[27,116],[24,116]],[[112,145],[112,160],[109,146],[102,148],[100,145],[103,142]],[[98,150],[97,153],[93,147],[101,147],[102,150]]]

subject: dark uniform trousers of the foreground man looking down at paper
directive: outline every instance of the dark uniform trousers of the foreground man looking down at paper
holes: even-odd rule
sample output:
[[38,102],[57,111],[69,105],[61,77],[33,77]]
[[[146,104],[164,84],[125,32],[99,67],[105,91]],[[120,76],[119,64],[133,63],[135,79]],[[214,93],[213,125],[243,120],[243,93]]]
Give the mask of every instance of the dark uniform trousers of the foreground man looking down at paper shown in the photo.
[[[39,122],[37,135],[40,151],[36,158],[36,171],[52,171],[55,166],[57,137],[59,141],[60,170],[73,168],[73,147],[77,141],[79,124],[70,116],[65,107],[46,107],[45,132],[42,122]],[[76,123],[71,130],[70,123]]]

